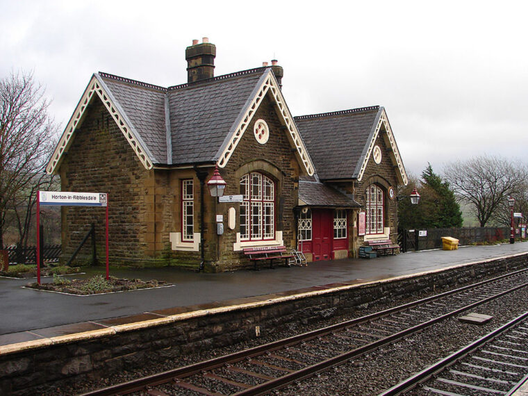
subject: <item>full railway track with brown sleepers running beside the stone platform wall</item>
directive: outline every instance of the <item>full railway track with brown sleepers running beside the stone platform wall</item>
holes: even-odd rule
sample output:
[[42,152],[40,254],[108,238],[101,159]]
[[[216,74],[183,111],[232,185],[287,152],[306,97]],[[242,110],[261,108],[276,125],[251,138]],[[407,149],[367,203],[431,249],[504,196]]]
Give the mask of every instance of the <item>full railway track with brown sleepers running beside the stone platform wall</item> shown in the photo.
[[[88,395],[263,395],[528,286],[520,270]],[[528,370],[527,370],[528,371]]]

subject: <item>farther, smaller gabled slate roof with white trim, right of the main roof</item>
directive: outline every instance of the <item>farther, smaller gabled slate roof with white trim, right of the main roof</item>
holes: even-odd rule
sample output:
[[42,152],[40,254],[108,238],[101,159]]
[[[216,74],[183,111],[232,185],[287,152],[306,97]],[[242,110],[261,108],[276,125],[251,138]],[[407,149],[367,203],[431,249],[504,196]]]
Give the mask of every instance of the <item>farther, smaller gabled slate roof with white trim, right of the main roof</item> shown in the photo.
[[363,179],[379,133],[383,133],[400,183],[407,175],[383,107],[370,106],[295,117],[322,180]]

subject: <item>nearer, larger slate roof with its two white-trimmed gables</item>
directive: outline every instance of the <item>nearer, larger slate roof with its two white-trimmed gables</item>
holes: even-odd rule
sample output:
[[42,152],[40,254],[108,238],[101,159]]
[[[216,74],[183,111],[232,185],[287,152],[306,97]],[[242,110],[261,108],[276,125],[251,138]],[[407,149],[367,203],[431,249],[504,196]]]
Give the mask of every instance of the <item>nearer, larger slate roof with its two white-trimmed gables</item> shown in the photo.
[[259,67],[170,88],[94,74],[53,152],[49,173],[60,164],[94,93],[146,169],[195,163],[224,167],[261,100],[270,94],[299,163],[306,174],[314,172],[271,67]]

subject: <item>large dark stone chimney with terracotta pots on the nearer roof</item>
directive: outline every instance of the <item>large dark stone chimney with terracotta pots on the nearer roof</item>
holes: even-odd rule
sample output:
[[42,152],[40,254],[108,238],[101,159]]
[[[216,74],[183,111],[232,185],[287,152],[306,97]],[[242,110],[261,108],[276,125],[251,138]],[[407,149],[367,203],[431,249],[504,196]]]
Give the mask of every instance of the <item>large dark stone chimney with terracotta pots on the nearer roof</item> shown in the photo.
[[216,46],[204,37],[201,44],[198,40],[192,40],[192,45],[185,49],[185,60],[187,60],[187,81],[212,79],[215,76]]

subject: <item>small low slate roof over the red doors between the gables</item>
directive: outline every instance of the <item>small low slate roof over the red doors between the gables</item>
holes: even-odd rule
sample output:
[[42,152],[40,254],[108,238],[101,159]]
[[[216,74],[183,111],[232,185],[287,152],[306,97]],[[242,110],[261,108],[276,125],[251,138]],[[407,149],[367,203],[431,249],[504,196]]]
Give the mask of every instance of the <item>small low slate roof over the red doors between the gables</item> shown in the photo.
[[[302,202],[300,202],[302,201]],[[299,204],[328,208],[360,207],[354,199],[313,178],[299,177]]]

